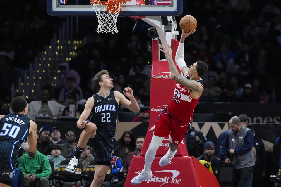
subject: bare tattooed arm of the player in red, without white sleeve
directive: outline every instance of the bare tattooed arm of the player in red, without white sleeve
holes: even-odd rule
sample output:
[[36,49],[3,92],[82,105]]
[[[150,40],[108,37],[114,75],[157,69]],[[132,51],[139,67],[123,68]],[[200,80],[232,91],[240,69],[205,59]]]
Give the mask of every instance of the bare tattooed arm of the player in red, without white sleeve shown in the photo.
[[181,76],[174,64],[174,60],[172,58],[172,50],[170,49],[170,46],[168,46],[167,44],[162,46],[164,50],[160,50],[165,53],[166,59],[168,60],[172,79],[180,83],[181,85],[189,88],[191,97],[194,99],[198,99],[203,92],[202,85],[197,81],[189,80]]

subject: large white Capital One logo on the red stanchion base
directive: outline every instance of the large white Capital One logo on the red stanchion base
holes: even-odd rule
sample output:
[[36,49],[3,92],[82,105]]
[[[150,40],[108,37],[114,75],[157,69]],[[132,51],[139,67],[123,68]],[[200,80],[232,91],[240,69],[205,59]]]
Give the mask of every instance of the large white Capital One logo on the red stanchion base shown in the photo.
[[[157,172],[169,172],[169,173],[172,173],[172,176],[160,176],[159,177],[159,174]],[[181,183],[181,179],[175,179],[178,175],[179,175],[179,171],[177,170],[161,170],[161,171],[155,171],[153,173],[157,173],[156,176],[154,176],[153,178],[151,179],[148,179],[148,180],[144,180],[144,182],[147,182],[147,183],[151,183],[151,182],[159,182],[159,183],[162,183],[160,184],[159,186],[162,186],[166,183],[168,184],[180,184]],[[161,175],[161,174],[160,174]]]

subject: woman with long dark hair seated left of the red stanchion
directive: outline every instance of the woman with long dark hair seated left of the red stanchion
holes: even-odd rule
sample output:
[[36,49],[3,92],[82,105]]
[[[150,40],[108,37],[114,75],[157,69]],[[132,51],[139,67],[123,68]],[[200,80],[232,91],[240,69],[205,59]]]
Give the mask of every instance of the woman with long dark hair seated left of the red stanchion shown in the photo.
[[113,155],[120,157],[125,162],[128,153],[136,149],[135,136],[132,131],[125,131],[119,141],[119,146],[114,148]]

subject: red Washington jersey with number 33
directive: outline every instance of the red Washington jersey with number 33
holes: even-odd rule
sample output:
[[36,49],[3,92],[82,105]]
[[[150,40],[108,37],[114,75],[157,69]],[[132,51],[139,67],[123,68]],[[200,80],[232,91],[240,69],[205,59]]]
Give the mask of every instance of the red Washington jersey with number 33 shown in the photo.
[[[190,75],[186,75],[189,79]],[[197,80],[203,87],[203,80],[200,78]],[[204,87],[203,87],[204,89]],[[196,107],[200,97],[193,99],[190,96],[189,89],[176,83],[174,90],[174,97],[169,102],[167,111],[177,120],[181,122],[188,122],[192,120],[194,108]],[[202,95],[202,94],[201,94]]]

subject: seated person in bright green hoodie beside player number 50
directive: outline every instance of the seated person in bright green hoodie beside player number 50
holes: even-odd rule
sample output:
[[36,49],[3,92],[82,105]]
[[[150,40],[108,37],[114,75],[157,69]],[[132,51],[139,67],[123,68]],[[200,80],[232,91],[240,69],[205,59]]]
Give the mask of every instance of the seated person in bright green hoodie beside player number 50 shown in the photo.
[[47,157],[39,151],[24,153],[18,160],[18,168],[23,172],[26,187],[48,187],[51,166]]

